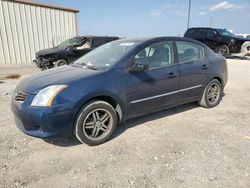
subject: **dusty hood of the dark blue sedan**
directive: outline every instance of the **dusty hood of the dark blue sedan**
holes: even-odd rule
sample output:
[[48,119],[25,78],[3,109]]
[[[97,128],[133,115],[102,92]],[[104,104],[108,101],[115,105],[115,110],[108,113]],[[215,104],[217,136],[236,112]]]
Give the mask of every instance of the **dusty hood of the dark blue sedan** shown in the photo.
[[102,71],[73,66],[61,66],[28,76],[20,81],[15,92],[37,94],[41,89],[56,84],[70,84],[71,82],[88,78]]

